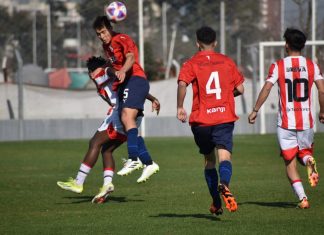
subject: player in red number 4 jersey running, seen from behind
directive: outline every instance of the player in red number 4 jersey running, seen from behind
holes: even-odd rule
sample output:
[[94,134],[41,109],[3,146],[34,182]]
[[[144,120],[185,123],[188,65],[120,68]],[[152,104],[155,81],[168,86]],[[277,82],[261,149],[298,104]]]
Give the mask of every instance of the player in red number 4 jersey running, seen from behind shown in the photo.
[[[196,31],[199,51],[187,60],[178,77],[177,118],[186,122],[183,108],[187,86],[192,84],[193,104],[189,124],[200,153],[205,157],[205,179],[213,202],[210,212],[223,212],[219,192],[226,208],[234,212],[237,203],[229,190],[232,175],[231,153],[235,114],[234,96],[243,94],[244,78],[235,63],[225,55],[216,53],[216,32],[210,27]],[[216,171],[217,149],[220,183]]]

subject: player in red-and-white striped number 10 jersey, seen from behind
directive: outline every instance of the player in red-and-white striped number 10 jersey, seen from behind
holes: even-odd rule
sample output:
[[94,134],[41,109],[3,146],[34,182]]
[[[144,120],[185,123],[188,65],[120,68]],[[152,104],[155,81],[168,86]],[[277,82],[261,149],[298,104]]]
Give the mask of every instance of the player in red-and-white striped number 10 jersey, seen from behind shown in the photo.
[[317,64],[301,55],[306,36],[297,29],[285,31],[287,57],[273,63],[267,80],[260,91],[249,123],[254,124],[257,113],[266,101],[273,85],[278,83],[279,111],[277,135],[286,173],[293,191],[299,199],[298,207],[309,208],[296,164],[296,157],[307,167],[312,187],[318,183],[319,174],[313,157],[314,115],[312,112],[312,86],[318,89],[320,104],[319,121],[324,123],[324,79]]

